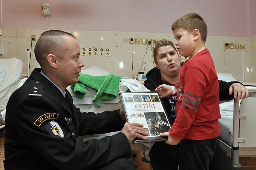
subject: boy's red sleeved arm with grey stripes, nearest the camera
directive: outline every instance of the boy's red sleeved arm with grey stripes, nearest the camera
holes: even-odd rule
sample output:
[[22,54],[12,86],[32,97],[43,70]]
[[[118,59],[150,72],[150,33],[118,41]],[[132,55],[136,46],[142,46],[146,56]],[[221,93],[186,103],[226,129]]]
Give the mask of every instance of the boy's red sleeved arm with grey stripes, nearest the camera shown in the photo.
[[208,80],[203,71],[194,67],[186,67],[184,74],[184,92],[180,108],[177,113],[177,118],[169,130],[169,134],[182,140],[188,133],[193,121],[195,120],[196,113],[200,102],[204,96],[205,88]]

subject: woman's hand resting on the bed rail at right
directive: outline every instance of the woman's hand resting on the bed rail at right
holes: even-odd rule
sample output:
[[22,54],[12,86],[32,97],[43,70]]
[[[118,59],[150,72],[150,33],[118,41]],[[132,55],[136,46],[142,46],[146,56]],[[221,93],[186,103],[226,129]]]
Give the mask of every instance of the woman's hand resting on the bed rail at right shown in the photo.
[[229,87],[229,95],[232,95],[234,93],[234,98],[238,100],[243,100],[244,98],[247,98],[249,96],[248,90],[240,83],[233,83]]

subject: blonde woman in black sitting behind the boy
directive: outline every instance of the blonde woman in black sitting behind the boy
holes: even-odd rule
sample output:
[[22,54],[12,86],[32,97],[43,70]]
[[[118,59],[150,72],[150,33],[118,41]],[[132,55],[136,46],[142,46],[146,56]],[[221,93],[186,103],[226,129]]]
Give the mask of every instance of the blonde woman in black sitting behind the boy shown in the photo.
[[[175,104],[177,102],[176,93],[173,94],[172,89],[169,93],[161,93],[163,90],[170,88],[169,86],[179,86],[179,70],[181,67],[180,58],[177,49],[171,41],[162,39],[158,41],[153,49],[153,57],[156,67],[147,73],[145,86],[151,91],[159,91],[165,110],[173,123],[175,120]],[[169,85],[169,86],[167,86]],[[243,99],[248,96],[247,89],[237,81],[225,82],[219,81],[220,100],[230,100],[233,96]],[[159,88],[158,88],[159,87]],[[177,88],[175,88],[177,92]],[[170,94],[171,96],[167,96]],[[179,165],[179,145],[168,145],[164,141],[156,142],[149,152],[151,166],[154,170],[171,169],[177,170]],[[216,146],[216,151],[210,170],[233,170],[233,165],[226,154],[221,150],[220,146]]]

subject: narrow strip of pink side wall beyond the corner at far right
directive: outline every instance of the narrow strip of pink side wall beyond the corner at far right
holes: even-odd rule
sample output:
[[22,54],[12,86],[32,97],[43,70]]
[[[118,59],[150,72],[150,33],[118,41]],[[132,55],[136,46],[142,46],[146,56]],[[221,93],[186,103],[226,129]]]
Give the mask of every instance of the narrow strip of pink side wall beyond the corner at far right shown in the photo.
[[250,36],[256,35],[256,1],[250,0]]

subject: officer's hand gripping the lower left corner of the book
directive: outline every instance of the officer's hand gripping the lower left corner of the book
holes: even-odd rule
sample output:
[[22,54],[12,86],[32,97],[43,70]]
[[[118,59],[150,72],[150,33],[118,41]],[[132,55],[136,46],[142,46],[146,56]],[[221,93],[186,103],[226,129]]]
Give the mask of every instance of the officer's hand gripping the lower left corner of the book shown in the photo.
[[145,136],[148,136],[148,131],[143,128],[143,125],[137,123],[125,123],[121,132],[127,137],[129,143],[132,143],[134,138],[146,140]]

